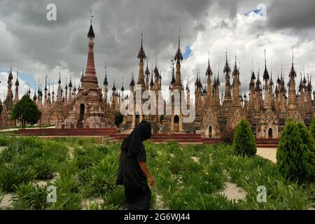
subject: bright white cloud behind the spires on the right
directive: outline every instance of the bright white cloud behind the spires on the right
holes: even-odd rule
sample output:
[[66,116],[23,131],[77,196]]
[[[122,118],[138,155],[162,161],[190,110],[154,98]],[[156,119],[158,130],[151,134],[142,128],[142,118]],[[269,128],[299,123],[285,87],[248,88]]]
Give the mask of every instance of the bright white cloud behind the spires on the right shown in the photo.
[[[225,64],[225,48],[228,49],[228,62],[231,69],[235,65],[235,53],[237,54],[237,65],[240,63],[241,90],[248,91],[250,81],[251,62],[253,58],[254,69],[257,73],[260,68],[260,79],[264,65],[264,50],[267,52],[267,69],[269,74],[272,66],[272,78],[276,80],[277,71],[281,69],[281,63],[285,69],[286,81],[291,65],[291,52],[295,55],[295,69],[297,73],[303,65],[314,63],[315,41],[302,42],[298,36],[293,36],[279,31],[267,29],[256,29],[264,27],[260,15],[249,13],[248,16],[237,14],[235,20],[222,20],[218,17],[209,16],[205,23],[205,31],[197,34],[196,41],[190,45],[193,55],[182,64],[182,78],[190,80],[190,90],[195,90],[194,83],[197,69],[200,69],[202,82],[205,83],[205,72],[208,63],[208,51],[210,52],[211,69],[214,73],[218,71],[220,63],[219,78],[221,89],[224,90],[225,76],[223,66]],[[258,66],[259,63],[259,66]],[[232,78],[230,80],[232,83]],[[194,91],[191,91],[192,94]]]

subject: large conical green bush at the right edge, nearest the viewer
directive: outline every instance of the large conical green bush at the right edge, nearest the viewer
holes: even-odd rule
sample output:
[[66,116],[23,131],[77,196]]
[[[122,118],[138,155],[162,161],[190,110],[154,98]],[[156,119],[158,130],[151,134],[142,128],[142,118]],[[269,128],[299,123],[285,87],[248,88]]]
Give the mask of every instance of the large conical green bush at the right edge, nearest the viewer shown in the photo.
[[281,134],[276,161],[281,174],[293,180],[315,180],[314,139],[302,123],[288,122]]

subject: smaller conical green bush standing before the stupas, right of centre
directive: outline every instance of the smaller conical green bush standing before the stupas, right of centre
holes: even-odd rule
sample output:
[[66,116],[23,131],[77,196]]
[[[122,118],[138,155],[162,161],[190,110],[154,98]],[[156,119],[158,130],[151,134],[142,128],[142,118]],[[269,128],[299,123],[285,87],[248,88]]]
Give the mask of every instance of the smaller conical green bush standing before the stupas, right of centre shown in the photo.
[[252,156],[256,154],[255,136],[248,121],[243,119],[235,129],[233,151],[236,155]]

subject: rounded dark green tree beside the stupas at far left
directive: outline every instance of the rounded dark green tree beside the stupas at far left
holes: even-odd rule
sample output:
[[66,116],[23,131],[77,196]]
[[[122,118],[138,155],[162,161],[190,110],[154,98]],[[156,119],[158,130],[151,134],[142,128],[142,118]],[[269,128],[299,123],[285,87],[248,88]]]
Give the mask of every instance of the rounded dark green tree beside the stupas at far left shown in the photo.
[[27,95],[23,96],[11,111],[11,119],[20,120],[22,128],[25,128],[26,123],[36,124],[39,118],[41,111]]

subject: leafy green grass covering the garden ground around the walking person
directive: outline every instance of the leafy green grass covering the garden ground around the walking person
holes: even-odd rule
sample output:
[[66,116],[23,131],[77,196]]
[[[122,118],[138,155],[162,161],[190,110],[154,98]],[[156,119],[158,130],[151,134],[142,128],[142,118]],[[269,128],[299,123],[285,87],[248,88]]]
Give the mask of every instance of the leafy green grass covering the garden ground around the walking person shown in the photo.
[[[116,186],[120,144],[95,139],[10,137],[0,135],[0,201],[13,193],[11,209],[122,209],[124,188]],[[315,184],[301,185],[282,176],[276,165],[258,156],[242,158],[224,144],[181,146],[146,141],[148,167],[155,178],[151,207],[167,209],[308,209]],[[73,158],[69,149],[73,151]],[[195,162],[192,157],[198,158]],[[57,175],[58,174],[58,175]],[[56,179],[57,175],[57,179]],[[55,178],[55,179],[52,179]],[[38,185],[38,181],[48,181]],[[244,200],[221,194],[231,181],[246,190]],[[57,188],[57,202],[47,202],[47,187]],[[267,189],[267,202],[256,198]],[[162,204],[158,204],[160,195]],[[160,202],[159,202],[160,203]]]

